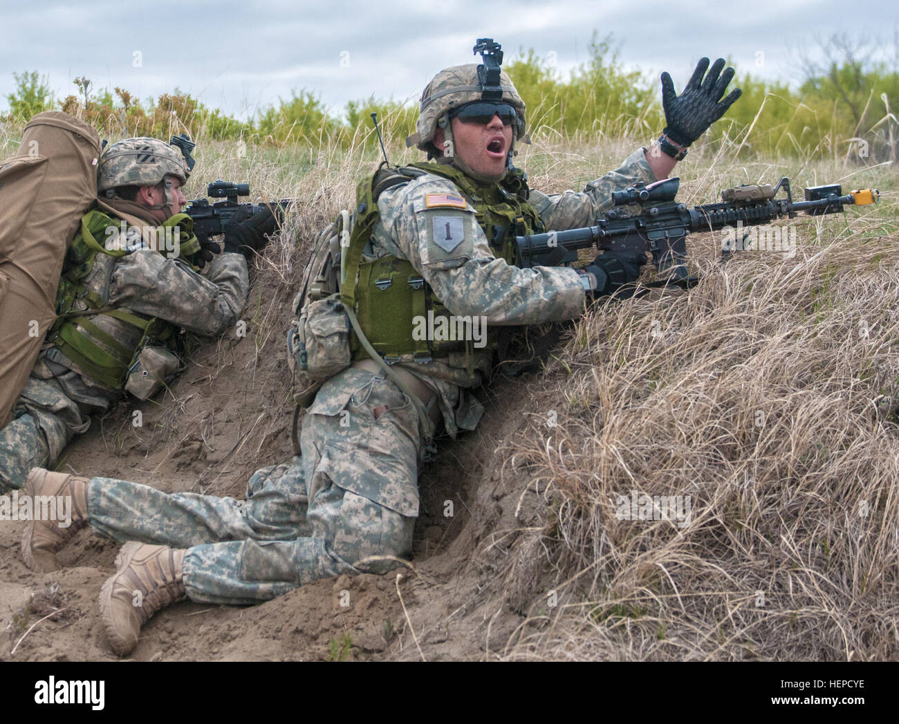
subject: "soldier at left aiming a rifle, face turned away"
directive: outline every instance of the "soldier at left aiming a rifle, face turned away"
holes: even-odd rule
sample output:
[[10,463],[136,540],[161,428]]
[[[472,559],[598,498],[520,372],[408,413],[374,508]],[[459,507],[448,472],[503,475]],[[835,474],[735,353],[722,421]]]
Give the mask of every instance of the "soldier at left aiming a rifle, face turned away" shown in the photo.
[[160,140],[127,139],[102,153],[101,199],[68,249],[61,316],[0,430],[0,493],[52,465],[94,412],[122,396],[129,371],[142,381],[154,357],[170,377],[179,328],[219,335],[240,314],[249,287],[243,255],[218,256],[205,276],[194,271],[212,255],[180,214],[189,175],[181,150]]

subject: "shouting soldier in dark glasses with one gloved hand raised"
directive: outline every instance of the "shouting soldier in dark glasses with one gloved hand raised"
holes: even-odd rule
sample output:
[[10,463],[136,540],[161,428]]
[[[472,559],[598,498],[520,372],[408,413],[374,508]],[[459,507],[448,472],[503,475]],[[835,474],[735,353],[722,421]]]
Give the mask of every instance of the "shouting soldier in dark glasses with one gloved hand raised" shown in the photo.
[[[717,91],[719,62],[709,91]],[[722,76],[712,112],[694,131],[724,112],[716,102],[732,75],[728,69]],[[149,616],[184,597],[256,603],[322,577],[384,572],[396,565],[392,557],[408,555],[418,473],[434,423],[450,435],[476,427],[483,408],[472,389],[489,371],[495,346],[415,339],[408,318],[414,309],[483,316],[494,334],[503,326],[576,317],[593,296],[636,280],[645,259],[608,252],[583,270],[516,267],[506,232],[510,225],[537,231],[589,224],[610,206],[612,190],[667,176],[672,156],[699,134],[678,134],[670,112],[669,128],[652,150],[636,150],[583,192],[531,191],[529,199],[523,174],[511,165],[515,142],[526,139],[525,107],[504,73],[501,85],[501,100],[485,102],[475,65],[441,71],[424,90],[418,132],[410,139],[438,162],[396,172],[405,174],[400,179],[376,174],[360,187],[373,203],[360,206],[343,299],[354,298],[361,331],[394,363],[388,375],[383,362],[355,353],[355,362],[327,380],[308,408],[301,454],[258,470],[245,501],[31,472],[32,493],[67,489],[80,501],[67,531],[35,523],[25,532],[22,552],[32,565],[57,567],[56,552],[85,524],[130,541],[101,593],[117,653],[134,648]],[[691,121],[701,112],[697,105],[686,114]],[[378,302],[378,291],[389,288],[400,293],[405,310]],[[378,326],[385,316],[391,324]]]

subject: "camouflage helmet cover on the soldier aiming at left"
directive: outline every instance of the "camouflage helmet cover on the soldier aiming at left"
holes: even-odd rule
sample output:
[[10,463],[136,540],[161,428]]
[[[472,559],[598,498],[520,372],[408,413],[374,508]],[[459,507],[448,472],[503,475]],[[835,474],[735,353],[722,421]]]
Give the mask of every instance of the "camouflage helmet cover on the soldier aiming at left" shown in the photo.
[[166,174],[186,183],[191,175],[180,148],[146,137],[106,147],[97,173],[97,190],[101,193],[120,186],[156,186]]

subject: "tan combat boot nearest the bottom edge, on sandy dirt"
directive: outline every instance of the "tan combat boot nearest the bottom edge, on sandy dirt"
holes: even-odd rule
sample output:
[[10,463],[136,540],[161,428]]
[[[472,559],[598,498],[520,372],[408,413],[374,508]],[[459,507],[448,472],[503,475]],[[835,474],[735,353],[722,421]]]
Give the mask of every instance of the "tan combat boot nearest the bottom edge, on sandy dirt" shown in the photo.
[[133,541],[121,547],[116,575],[100,591],[103,626],[120,657],[138,645],[140,627],[150,616],[183,600],[184,552]]

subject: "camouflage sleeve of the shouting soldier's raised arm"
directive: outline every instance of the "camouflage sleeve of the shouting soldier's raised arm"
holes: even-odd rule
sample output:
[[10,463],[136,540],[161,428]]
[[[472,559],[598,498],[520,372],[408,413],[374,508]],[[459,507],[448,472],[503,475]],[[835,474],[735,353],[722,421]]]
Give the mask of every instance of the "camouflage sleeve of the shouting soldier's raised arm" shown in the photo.
[[537,209],[547,231],[588,227],[611,208],[611,192],[626,188],[635,181],[652,183],[656,180],[646,161],[645,148],[638,148],[619,168],[588,183],[583,192],[547,195],[532,189],[529,201]]

